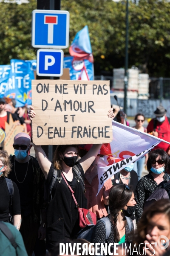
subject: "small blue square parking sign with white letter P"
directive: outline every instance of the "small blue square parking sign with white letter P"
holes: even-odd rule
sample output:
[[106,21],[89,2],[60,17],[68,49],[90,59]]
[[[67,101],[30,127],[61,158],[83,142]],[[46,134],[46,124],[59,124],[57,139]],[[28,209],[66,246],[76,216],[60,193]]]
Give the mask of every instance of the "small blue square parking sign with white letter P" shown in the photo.
[[39,49],[37,51],[38,76],[62,76],[64,52],[54,49]]

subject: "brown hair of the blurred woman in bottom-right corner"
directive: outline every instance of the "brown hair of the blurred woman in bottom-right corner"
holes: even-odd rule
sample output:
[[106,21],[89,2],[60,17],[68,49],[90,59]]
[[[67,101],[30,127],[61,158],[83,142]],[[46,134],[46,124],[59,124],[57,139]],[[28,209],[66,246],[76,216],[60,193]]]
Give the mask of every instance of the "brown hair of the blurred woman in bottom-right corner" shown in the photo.
[[139,223],[137,224],[137,229],[135,230],[133,243],[136,246],[144,243],[147,235],[147,227],[150,222],[150,219],[156,214],[165,214],[169,218],[170,222],[170,200],[169,199],[161,199],[159,201],[155,201],[144,211]]

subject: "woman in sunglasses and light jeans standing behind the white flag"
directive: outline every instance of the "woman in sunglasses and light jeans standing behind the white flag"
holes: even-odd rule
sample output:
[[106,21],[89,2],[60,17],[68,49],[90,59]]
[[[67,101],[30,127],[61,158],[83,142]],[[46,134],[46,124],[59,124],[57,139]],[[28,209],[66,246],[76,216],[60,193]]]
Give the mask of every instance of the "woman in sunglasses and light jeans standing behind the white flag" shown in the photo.
[[[138,131],[147,132],[147,128],[145,128],[143,126],[144,125],[144,120],[145,120],[144,115],[142,113],[137,113],[136,116],[135,116],[136,125],[133,126],[133,128],[138,130]],[[142,170],[143,170],[143,167],[144,167],[144,163],[146,164],[147,158],[148,158],[148,154],[146,154],[145,156],[141,157],[139,160],[137,160],[134,163],[133,170],[137,173],[138,180],[140,180],[140,178],[141,178]]]

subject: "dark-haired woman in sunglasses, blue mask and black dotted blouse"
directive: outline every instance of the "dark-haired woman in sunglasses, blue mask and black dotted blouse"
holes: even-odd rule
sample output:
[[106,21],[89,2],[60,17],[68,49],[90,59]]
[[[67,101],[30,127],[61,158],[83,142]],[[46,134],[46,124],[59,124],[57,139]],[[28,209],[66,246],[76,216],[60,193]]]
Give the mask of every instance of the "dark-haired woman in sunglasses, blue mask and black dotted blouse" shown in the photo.
[[147,160],[147,171],[149,174],[142,177],[136,187],[136,221],[142,216],[144,203],[154,192],[156,186],[162,181],[168,181],[170,175],[166,173],[169,157],[163,149],[150,152]]

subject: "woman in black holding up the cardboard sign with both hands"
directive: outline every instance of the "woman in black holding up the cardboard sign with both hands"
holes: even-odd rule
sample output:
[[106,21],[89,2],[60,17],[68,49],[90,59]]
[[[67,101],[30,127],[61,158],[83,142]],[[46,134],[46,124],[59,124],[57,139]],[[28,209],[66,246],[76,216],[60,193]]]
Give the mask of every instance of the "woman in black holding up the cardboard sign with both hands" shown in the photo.
[[[29,117],[32,120],[36,113],[34,108],[30,109]],[[113,109],[109,110],[108,117],[114,117]],[[45,189],[49,203],[46,241],[49,251],[53,249],[56,242],[77,237],[80,230],[79,214],[68,185],[74,191],[74,197],[79,207],[86,208],[84,176],[86,170],[94,162],[101,146],[102,144],[93,145],[88,153],[77,162],[79,156],[77,145],[59,145],[54,152],[53,163],[51,163],[41,146],[34,145],[38,163],[46,179]],[[57,179],[54,179],[56,174]]]

